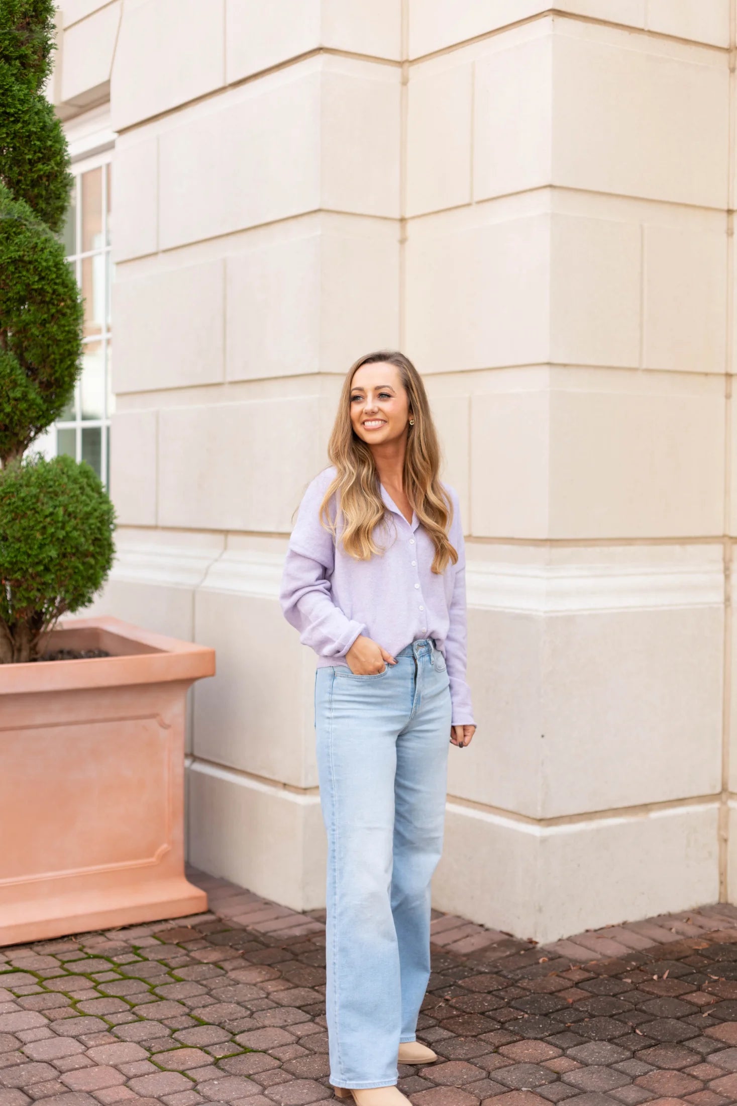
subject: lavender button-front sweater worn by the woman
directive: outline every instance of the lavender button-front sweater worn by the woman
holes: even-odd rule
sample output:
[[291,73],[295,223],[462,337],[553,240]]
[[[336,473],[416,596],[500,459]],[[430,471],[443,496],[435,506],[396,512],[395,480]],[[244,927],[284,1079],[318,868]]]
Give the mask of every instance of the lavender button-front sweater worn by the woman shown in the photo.
[[[439,575],[431,572],[434,545],[412,513],[411,524],[383,484],[381,497],[390,511],[389,524],[379,523],[373,539],[383,555],[357,561],[337,549],[322,525],[318,511],[335,477],[330,466],[309,483],[299,504],[284,564],[280,603],[299,640],[317,654],[317,667],[347,666],[346,653],[365,634],[396,656],[420,637],[432,637],[445,657],[451,682],[452,724],[473,723],[466,684],[465,549],[459,498],[451,495],[453,521],[449,532],[456,564]],[[335,519],[335,497],[329,504]],[[338,520],[338,534],[341,533]]]

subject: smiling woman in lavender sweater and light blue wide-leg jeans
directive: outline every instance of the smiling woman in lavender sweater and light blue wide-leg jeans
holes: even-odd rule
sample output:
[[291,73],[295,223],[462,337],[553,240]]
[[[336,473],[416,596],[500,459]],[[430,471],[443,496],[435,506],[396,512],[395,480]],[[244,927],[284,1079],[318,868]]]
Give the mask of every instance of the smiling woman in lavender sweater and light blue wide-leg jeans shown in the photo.
[[419,373],[400,353],[349,371],[330,468],[308,486],[281,603],[317,654],[315,729],[328,837],[330,1082],[399,1106],[430,974],[430,879],[450,742],[475,726],[465,679],[463,529]]

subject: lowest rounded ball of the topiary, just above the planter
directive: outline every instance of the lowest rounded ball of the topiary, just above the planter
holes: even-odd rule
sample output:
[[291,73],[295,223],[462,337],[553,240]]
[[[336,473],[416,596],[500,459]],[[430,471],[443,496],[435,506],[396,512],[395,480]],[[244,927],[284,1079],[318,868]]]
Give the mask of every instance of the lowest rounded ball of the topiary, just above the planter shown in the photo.
[[113,560],[113,504],[71,457],[13,461],[0,476],[0,661],[30,660],[41,635],[87,606]]

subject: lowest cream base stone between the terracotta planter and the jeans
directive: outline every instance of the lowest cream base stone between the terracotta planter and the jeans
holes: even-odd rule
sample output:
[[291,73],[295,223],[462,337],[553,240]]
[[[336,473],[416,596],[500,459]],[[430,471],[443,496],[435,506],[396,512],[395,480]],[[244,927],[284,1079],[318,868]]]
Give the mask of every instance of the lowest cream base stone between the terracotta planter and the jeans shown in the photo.
[[295,910],[325,905],[325,830],[316,794],[194,761],[189,859]]

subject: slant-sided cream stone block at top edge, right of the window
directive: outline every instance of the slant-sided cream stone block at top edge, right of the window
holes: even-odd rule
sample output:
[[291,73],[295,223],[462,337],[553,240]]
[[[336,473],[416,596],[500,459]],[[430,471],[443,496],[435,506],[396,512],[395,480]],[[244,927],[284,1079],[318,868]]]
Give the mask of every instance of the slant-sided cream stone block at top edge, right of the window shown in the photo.
[[112,80],[115,129],[219,88],[224,42],[224,0],[127,0]]

